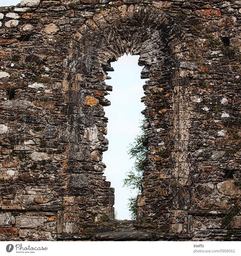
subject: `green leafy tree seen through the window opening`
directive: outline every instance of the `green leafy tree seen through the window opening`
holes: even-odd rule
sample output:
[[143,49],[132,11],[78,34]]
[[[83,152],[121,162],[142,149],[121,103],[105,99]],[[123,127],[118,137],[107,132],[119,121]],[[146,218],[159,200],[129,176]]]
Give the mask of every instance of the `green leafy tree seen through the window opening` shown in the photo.
[[[132,169],[126,173],[126,178],[123,180],[123,187],[130,188],[131,190],[137,190],[138,194],[141,192],[141,180],[144,172],[143,161],[146,159],[146,147],[142,144],[142,138],[146,137],[147,131],[143,128],[143,124],[146,119],[140,123],[140,133],[135,137],[134,142],[130,143],[128,154],[130,159],[134,159],[134,165]],[[128,209],[130,211],[132,219],[136,219],[137,216],[137,199],[136,197],[130,197],[128,203]]]

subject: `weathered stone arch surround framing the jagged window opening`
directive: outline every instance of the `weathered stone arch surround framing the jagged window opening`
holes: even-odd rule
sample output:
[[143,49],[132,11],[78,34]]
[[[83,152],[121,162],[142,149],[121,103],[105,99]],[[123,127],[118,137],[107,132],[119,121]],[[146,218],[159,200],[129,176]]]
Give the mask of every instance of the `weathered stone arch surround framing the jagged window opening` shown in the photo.
[[[68,95],[64,100],[71,104],[78,98],[94,121],[84,124],[84,141],[81,144],[79,141],[69,144],[67,158],[70,160],[67,165],[73,169],[73,165],[76,165],[73,160],[83,161],[78,151],[82,154],[88,151],[85,157],[90,165],[101,170],[105,168],[102,152],[107,150],[108,141],[104,137],[107,119],[103,106],[110,105],[104,96],[111,86],[104,80],[109,78],[107,71],[111,70],[111,62],[125,52],[140,55],[139,65],[144,66],[142,78],[149,78],[143,86],[146,96],[142,98],[146,104],[142,114],[148,119],[145,126],[149,135],[144,142],[148,153],[142,194],[138,196],[138,221],[152,220],[154,226],[159,223],[158,227],[170,231],[171,209],[184,209],[186,212],[189,208],[188,160],[179,163],[178,159],[188,154],[186,141],[191,109],[188,84],[193,76],[193,67],[183,65],[189,55],[184,36],[163,11],[122,5],[95,15],[74,33],[69,54],[63,62],[64,95]],[[77,83],[79,86],[74,87]],[[69,111],[68,115],[68,123],[73,129],[76,110]],[[72,136],[72,131],[68,136]],[[172,151],[174,153],[171,154]],[[174,180],[180,177],[180,183],[174,187],[181,187],[175,192],[175,188],[170,189],[170,184],[175,184]],[[69,176],[71,188],[75,186],[75,179],[78,180],[75,174]],[[80,179],[88,185],[89,178],[81,176]],[[114,217],[114,189],[109,186],[110,183],[105,182],[102,187],[102,190],[109,191],[108,200],[101,207],[95,207],[98,218],[103,214]],[[186,198],[181,205],[180,198],[173,198],[178,191],[182,191]],[[100,196],[100,191],[98,193]],[[187,229],[186,223],[174,227],[171,232],[177,232],[176,229]],[[77,229],[73,228],[71,232],[77,232]]]

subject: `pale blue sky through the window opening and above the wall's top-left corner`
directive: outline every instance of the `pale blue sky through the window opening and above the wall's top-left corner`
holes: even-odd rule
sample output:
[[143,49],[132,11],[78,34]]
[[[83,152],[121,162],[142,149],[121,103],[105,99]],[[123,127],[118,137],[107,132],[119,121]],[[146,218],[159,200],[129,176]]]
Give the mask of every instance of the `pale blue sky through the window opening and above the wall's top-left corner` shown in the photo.
[[[11,6],[20,3],[20,0],[0,0],[0,6]],[[105,96],[111,105],[104,107],[105,116],[108,117],[109,147],[103,153],[103,162],[106,180],[115,188],[115,213],[117,219],[131,219],[127,208],[128,198],[136,196],[136,191],[123,188],[123,179],[133,166],[134,160],[129,159],[128,146],[140,132],[139,122],[143,119],[140,113],[145,106],[140,102],[144,96],[140,79],[143,67],[137,65],[138,55],[124,55],[117,62],[111,62],[114,72],[108,72],[111,80],[105,82],[113,86],[110,95]]]

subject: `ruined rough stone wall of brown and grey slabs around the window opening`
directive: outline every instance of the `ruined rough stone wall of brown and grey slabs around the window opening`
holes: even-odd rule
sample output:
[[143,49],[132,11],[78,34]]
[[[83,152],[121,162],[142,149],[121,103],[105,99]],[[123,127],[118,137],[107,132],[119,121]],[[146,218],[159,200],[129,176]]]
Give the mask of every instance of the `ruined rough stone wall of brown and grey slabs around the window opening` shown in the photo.
[[[0,240],[240,240],[240,17],[221,0],[0,7]],[[102,162],[125,52],[146,79],[136,221],[114,220]]]

